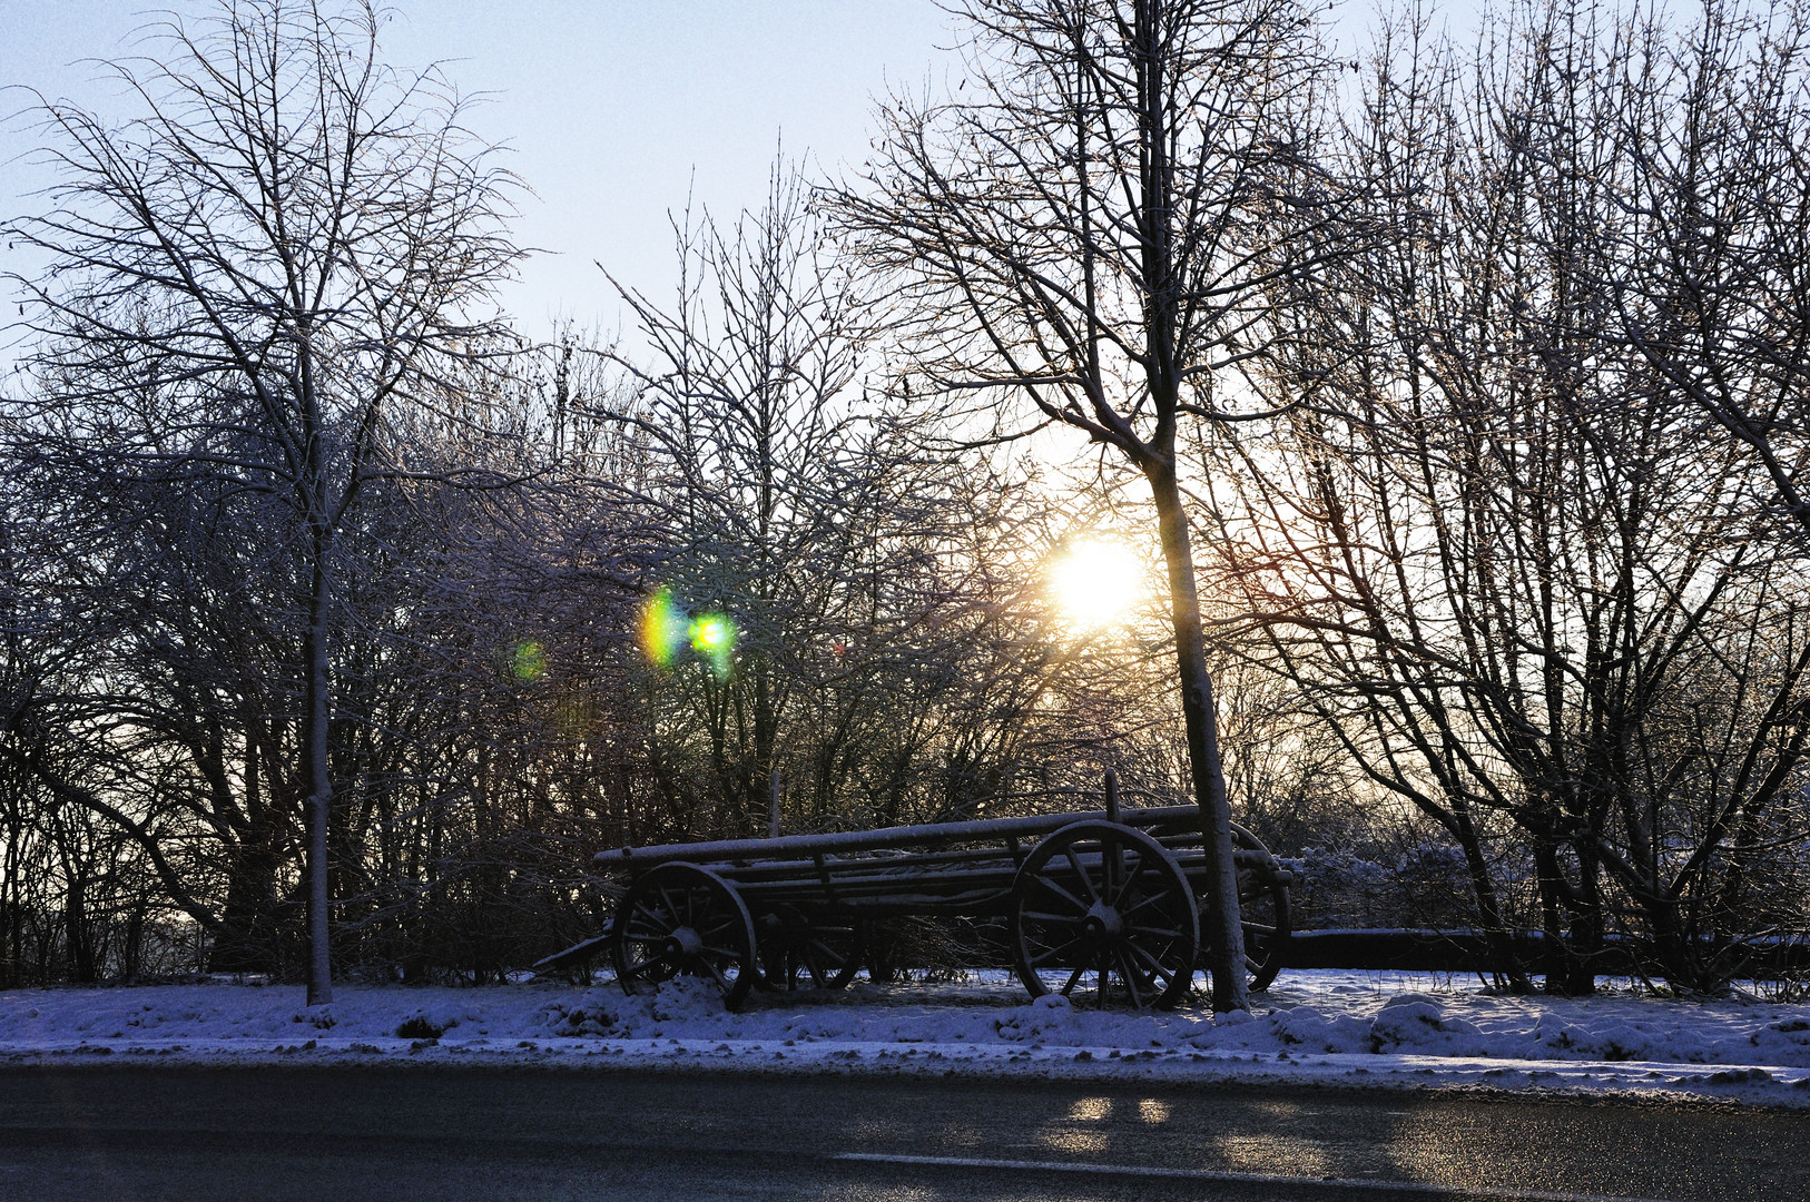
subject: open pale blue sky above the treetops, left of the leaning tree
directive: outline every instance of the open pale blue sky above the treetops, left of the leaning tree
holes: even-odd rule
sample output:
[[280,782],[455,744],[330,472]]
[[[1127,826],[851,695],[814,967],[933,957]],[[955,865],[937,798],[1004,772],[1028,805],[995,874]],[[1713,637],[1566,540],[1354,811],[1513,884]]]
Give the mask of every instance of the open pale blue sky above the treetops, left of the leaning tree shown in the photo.
[[[0,0],[0,83],[114,112],[98,69],[76,60],[132,54],[154,7]],[[509,167],[538,194],[523,197],[519,241],[556,252],[527,262],[507,295],[532,333],[556,315],[614,328],[594,261],[668,288],[666,212],[688,190],[731,217],[758,206],[782,134],[787,156],[809,150],[822,170],[860,161],[869,98],[954,62],[938,51],[952,38],[930,0],[402,0],[384,42],[395,63],[456,60],[462,89],[494,94],[472,125],[512,147]],[[7,114],[25,103],[0,96]],[[13,161],[34,141],[20,121],[0,129],[4,214],[38,206],[24,194],[45,177]]]

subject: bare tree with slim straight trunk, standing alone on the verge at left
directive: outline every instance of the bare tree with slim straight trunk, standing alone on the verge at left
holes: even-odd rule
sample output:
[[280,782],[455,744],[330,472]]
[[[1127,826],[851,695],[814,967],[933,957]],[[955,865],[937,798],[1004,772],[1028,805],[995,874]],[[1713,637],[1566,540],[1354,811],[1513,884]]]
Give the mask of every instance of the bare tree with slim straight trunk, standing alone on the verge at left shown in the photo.
[[[308,804],[308,999],[331,999],[329,655],[342,532],[373,480],[407,474],[391,418],[492,329],[518,252],[507,176],[438,69],[380,56],[369,4],[221,4],[112,63],[141,116],[42,107],[54,208],[9,237],[49,255],[27,297],[36,395],[11,415],[172,480],[275,498],[299,565]],[[156,405],[159,438],[130,416]],[[125,420],[121,420],[125,418]]]

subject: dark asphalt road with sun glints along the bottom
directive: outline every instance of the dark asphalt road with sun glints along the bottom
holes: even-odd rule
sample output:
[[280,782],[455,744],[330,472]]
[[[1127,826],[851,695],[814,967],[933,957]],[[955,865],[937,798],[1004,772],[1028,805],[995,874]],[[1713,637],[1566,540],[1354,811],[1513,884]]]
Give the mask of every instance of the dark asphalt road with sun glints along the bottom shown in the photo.
[[0,1070],[0,1198],[1810,1198],[1810,1117],[1318,1090]]

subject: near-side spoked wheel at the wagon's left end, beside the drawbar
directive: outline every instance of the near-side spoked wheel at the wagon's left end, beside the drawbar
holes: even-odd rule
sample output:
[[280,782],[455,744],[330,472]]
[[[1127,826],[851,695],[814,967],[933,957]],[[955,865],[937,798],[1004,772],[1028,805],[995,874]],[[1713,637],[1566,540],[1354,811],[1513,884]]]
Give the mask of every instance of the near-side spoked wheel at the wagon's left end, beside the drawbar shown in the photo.
[[748,907],[726,880],[695,863],[661,863],[635,878],[615,911],[610,954],[626,994],[697,976],[717,983],[728,1010],[742,1008],[760,976]]

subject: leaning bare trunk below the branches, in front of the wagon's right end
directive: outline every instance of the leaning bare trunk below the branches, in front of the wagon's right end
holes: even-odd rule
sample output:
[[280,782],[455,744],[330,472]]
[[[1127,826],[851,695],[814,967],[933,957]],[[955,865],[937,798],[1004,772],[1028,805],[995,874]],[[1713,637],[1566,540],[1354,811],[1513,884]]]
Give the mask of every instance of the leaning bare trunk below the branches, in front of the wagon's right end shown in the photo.
[[1243,925],[1238,912],[1238,863],[1233,860],[1233,811],[1220,769],[1220,731],[1213,711],[1213,679],[1207,673],[1205,635],[1200,625],[1200,594],[1195,585],[1195,554],[1187,536],[1187,512],[1176,487],[1175,467],[1146,471],[1157,501],[1162,558],[1169,568],[1169,601],[1175,623],[1175,661],[1182,684],[1182,717],[1187,724],[1187,760],[1195,800],[1200,804],[1200,838],[1207,851],[1207,929],[1211,945],[1213,1008],[1249,1010]]

